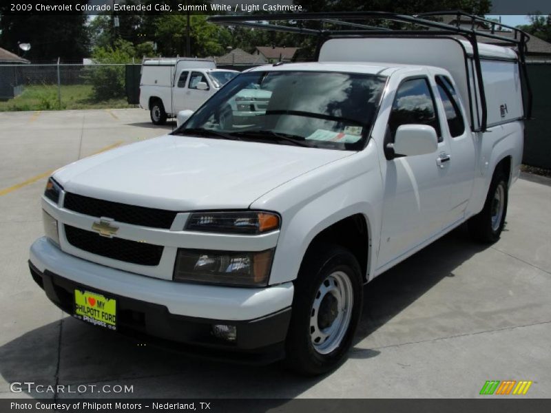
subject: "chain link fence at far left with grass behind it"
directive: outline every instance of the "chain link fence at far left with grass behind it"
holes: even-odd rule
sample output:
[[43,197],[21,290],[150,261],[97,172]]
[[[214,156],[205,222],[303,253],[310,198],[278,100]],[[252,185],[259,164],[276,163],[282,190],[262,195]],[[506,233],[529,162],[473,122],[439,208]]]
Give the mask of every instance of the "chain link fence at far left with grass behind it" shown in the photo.
[[0,65],[0,111],[134,107],[125,64]]

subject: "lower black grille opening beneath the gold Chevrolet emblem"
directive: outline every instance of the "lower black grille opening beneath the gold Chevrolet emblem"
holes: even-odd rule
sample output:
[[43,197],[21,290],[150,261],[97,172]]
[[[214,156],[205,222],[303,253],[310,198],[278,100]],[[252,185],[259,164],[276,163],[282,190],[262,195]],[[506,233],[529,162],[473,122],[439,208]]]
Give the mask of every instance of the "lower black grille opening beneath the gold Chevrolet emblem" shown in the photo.
[[98,233],[64,225],[65,236],[72,246],[92,254],[131,262],[132,264],[156,266],[163,255],[163,246],[102,237]]

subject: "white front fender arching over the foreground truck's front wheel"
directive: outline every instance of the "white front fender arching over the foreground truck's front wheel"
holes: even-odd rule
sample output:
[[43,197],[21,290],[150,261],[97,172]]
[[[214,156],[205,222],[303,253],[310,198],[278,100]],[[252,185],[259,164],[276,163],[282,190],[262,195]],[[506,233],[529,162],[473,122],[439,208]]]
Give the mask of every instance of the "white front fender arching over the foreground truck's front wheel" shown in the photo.
[[295,279],[313,238],[331,224],[360,213],[368,226],[368,274],[373,273],[370,269],[375,251],[371,246],[379,246],[382,194],[372,141],[364,151],[310,171],[253,202],[251,209],[282,215],[270,284]]

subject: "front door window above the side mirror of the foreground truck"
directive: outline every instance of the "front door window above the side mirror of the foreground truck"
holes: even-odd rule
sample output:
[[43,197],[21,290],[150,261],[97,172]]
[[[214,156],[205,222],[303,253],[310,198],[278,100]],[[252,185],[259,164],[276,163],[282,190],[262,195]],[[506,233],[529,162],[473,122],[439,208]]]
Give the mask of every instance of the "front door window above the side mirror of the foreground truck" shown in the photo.
[[401,125],[429,125],[436,129],[438,142],[442,141],[436,116],[435,100],[426,78],[415,78],[399,85],[388,119],[391,142]]

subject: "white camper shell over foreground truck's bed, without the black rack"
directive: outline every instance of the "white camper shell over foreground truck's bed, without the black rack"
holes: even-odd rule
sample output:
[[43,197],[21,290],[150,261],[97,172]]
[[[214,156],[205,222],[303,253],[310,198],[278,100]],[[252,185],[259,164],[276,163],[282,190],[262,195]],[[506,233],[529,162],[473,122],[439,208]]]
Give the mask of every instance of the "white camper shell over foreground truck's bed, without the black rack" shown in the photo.
[[[519,58],[507,47],[479,44],[486,105],[487,127],[523,118]],[[436,66],[455,79],[468,111],[472,129],[481,127],[481,100],[468,41],[453,38],[330,39],[320,50],[318,61],[384,62]]]

